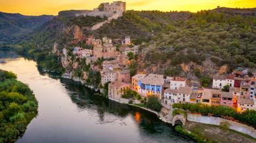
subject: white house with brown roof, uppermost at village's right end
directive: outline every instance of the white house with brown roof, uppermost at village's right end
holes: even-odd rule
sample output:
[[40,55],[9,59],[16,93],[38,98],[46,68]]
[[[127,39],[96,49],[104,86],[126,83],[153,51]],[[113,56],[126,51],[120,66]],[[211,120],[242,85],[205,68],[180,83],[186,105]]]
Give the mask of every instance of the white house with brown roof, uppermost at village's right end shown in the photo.
[[235,80],[233,75],[216,75],[212,77],[212,88],[222,89],[226,85],[234,87],[234,83]]

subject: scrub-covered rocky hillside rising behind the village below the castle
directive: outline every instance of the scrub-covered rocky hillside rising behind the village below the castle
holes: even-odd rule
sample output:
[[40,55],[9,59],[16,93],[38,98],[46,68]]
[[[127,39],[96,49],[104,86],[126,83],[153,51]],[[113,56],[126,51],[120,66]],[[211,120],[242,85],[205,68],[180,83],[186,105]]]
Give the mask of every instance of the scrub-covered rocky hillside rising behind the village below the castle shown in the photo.
[[[88,27],[100,17],[74,17],[61,12],[38,28],[32,40],[18,46],[22,53],[52,51],[84,45],[86,38],[131,36],[140,46],[138,71],[166,76],[195,77],[230,72],[238,67],[255,69],[255,9],[218,8],[198,13],[127,11],[96,31]],[[55,44],[57,43],[57,44]],[[28,52],[29,51],[29,52]]]

